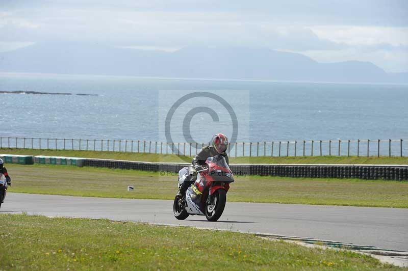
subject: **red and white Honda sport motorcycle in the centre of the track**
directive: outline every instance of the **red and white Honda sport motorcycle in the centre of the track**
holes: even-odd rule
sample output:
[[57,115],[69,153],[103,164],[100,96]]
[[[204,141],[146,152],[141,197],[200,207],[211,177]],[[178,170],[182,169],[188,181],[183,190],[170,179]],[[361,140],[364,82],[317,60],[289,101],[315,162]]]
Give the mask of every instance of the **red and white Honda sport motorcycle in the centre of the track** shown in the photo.
[[[209,157],[207,167],[197,172],[197,180],[182,198],[175,197],[173,213],[184,220],[190,214],[205,215],[208,221],[217,221],[224,211],[226,193],[234,175],[222,155]],[[179,171],[179,189],[188,175],[188,168]]]

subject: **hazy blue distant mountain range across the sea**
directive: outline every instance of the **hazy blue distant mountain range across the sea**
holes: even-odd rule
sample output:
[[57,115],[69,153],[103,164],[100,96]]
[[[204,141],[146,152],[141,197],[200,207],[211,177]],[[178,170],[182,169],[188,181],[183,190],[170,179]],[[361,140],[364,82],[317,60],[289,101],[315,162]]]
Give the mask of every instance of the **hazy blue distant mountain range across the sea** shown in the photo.
[[36,43],[0,53],[0,72],[266,79],[308,82],[408,83],[370,62],[319,63],[267,48],[186,47],[175,52],[98,43]]

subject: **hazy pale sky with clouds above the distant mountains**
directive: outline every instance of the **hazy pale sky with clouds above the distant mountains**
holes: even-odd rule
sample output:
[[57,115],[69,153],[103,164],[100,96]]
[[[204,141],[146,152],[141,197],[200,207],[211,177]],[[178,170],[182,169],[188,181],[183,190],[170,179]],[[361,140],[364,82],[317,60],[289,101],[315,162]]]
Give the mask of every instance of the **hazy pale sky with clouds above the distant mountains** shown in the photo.
[[86,41],[175,50],[248,46],[408,72],[408,1],[0,0],[0,50]]

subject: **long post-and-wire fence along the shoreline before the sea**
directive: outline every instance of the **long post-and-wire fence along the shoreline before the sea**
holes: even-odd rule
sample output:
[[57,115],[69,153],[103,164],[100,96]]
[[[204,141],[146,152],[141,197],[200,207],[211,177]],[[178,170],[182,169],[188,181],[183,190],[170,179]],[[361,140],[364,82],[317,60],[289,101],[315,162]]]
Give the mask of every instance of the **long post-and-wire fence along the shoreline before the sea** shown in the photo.
[[[208,143],[167,143],[146,140],[42,139],[0,137],[0,149],[87,150],[192,156]],[[300,140],[236,142],[227,149],[242,156],[408,156],[407,139]]]

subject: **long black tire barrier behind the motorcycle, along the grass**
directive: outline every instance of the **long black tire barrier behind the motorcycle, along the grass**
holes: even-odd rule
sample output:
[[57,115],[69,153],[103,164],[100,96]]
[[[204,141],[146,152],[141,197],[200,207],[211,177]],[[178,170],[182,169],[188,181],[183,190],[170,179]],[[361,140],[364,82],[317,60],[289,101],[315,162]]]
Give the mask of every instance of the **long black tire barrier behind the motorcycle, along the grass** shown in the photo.
[[[187,163],[89,159],[83,166],[177,173]],[[365,180],[408,180],[408,165],[311,165],[311,164],[232,164],[235,175],[259,175],[297,178],[351,178]]]

